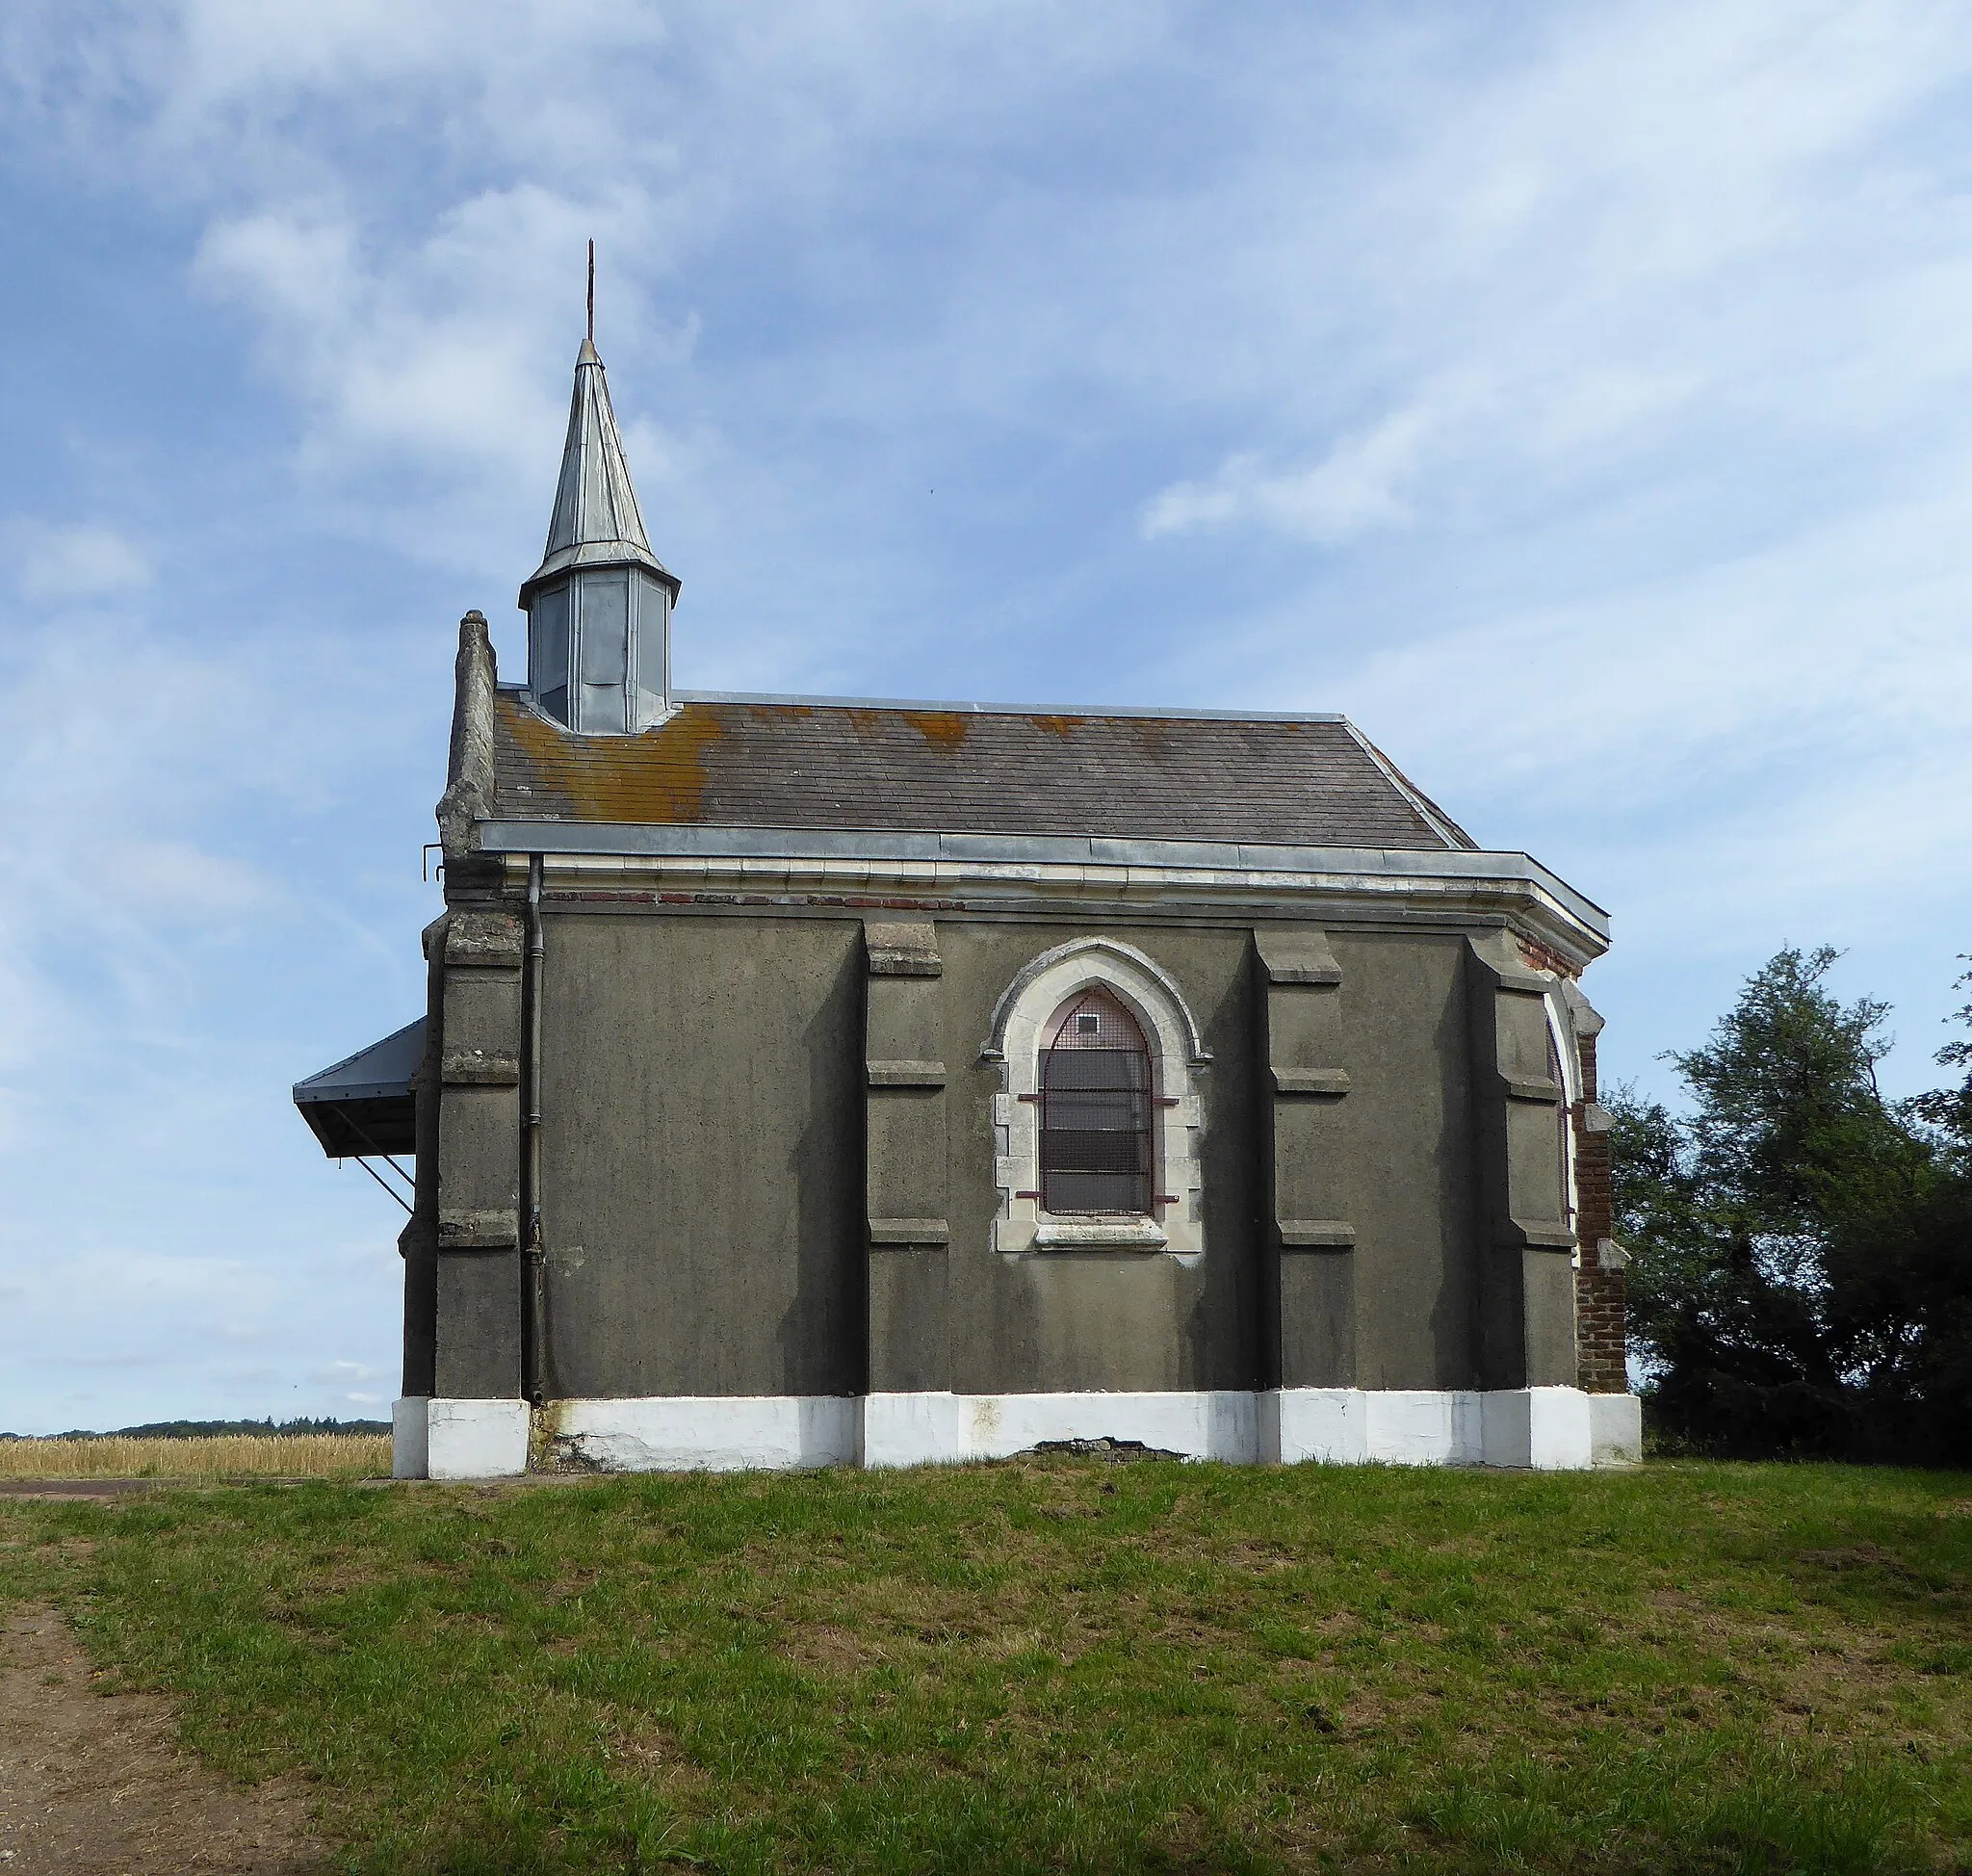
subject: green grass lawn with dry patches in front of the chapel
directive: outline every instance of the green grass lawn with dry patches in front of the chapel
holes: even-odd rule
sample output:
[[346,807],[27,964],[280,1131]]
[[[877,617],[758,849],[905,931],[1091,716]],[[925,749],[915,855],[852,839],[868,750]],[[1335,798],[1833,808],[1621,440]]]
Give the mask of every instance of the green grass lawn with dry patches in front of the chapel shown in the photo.
[[0,1501],[353,1870],[1972,1866],[1972,1476],[1023,1460]]

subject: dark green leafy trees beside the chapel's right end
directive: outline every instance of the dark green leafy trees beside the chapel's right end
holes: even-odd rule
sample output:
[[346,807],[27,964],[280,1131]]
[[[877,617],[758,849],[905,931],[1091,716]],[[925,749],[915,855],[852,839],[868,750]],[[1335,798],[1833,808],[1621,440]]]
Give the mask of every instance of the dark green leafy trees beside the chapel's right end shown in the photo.
[[1887,1103],[1887,1008],[1838,1002],[1834,961],[1779,953],[1670,1057],[1688,1115],[1611,1101],[1653,1420],[1722,1454],[1972,1456],[1972,1077]]

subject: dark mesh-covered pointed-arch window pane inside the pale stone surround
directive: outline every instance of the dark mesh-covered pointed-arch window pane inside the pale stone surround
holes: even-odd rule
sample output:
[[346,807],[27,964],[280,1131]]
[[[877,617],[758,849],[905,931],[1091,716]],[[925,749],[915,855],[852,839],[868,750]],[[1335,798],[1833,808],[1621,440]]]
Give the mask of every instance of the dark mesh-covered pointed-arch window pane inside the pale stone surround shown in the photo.
[[1100,984],[1049,1024],[1041,1061],[1041,1207],[1061,1215],[1150,1217],[1150,1046]]

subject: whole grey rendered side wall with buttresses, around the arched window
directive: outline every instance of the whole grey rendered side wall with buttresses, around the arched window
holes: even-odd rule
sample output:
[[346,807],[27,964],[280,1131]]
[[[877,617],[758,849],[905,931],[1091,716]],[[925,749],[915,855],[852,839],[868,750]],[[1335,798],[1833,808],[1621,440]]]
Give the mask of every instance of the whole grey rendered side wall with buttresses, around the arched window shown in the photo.
[[[1169,973],[1211,1051],[1185,1268],[990,1249],[980,1044],[1014,974],[1091,927],[919,929],[925,959],[880,965],[852,917],[550,909],[550,1397],[1572,1379],[1544,984],[1507,933],[1102,927]],[[454,1016],[497,1004],[505,1034],[517,973],[448,974]],[[446,1103],[450,1197],[511,1203],[517,1091]],[[905,1241],[872,1247],[872,1217]],[[436,1391],[511,1393],[517,1255],[438,1264],[436,1298],[406,1270],[410,1339],[440,1318]]]

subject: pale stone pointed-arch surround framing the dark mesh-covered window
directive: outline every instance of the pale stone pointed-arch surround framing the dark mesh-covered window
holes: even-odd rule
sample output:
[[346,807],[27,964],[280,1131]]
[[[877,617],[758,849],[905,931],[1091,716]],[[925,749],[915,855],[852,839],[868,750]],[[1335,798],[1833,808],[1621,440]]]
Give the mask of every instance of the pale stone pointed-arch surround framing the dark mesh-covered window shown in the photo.
[[[1041,1044],[1069,998],[1100,984],[1138,1022],[1150,1044],[1154,1186],[1150,1217],[1051,1217],[1041,1190]],[[1000,1207],[994,1251],[1031,1257],[1057,1251],[1165,1253],[1181,1264],[1205,1255],[1201,1075],[1211,1053],[1183,992],[1154,959],[1122,939],[1083,937],[1031,959],[994,1010],[982,1061],[1000,1065],[994,1095],[994,1186]],[[1023,1197],[1023,1193],[1027,1193]]]

